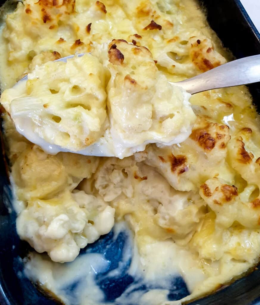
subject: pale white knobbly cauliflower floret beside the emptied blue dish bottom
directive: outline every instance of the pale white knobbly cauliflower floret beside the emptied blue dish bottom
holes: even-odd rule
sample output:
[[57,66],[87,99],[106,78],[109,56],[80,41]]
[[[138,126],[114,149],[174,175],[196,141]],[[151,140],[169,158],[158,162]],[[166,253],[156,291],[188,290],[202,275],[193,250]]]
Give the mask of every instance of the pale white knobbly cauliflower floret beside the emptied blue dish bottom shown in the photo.
[[48,200],[34,199],[17,217],[21,239],[55,262],[73,261],[80,248],[108,233],[115,210],[83,191],[65,191]]

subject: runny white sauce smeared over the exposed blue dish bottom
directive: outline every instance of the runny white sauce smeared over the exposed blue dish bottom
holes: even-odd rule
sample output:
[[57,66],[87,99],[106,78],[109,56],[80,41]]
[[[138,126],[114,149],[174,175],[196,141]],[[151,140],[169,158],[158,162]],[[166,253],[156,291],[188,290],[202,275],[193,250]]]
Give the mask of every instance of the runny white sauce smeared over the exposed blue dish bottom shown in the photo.
[[[112,299],[110,298],[110,302],[107,300],[102,287],[104,283],[120,278],[122,274],[125,274],[126,279],[133,278],[133,282],[113,300],[113,304],[168,304],[169,293],[178,295],[184,289],[189,294],[187,288],[191,292],[195,283],[203,281],[203,272],[192,261],[191,254],[181,250],[172,241],[151,242],[142,247],[140,255],[133,234],[125,222],[115,224],[113,231],[113,241],[123,233],[125,244],[118,266],[111,271],[109,266],[117,263],[117,258],[109,260],[110,258],[105,257],[104,253],[109,249],[106,244],[102,246],[103,253],[91,253],[87,250],[73,262],[65,264],[55,263],[47,256],[32,253],[30,260],[25,262],[25,274],[34,282],[40,282],[50,289],[68,305],[109,304]],[[185,284],[180,277],[185,279],[187,288],[181,287]],[[175,281],[176,279],[179,281]],[[113,289],[118,288],[120,289],[115,285],[109,286],[109,293],[113,294]],[[180,296],[185,295],[182,292]],[[170,303],[179,304],[175,301]]]

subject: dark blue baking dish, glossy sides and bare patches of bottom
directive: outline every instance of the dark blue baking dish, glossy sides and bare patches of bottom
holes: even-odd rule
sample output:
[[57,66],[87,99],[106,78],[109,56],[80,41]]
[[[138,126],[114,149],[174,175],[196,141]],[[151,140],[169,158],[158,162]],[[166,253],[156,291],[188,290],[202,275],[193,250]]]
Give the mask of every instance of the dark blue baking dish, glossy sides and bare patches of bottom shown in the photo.
[[[0,1],[0,4],[4,1]],[[15,5],[15,3],[14,3]],[[207,10],[208,21],[213,30],[237,58],[260,54],[260,35],[251,22],[239,0],[204,0],[201,5]],[[260,111],[260,83],[249,86],[255,105]],[[1,135],[2,136],[2,135]],[[30,247],[20,241],[16,234],[15,218],[12,211],[12,195],[7,175],[8,163],[5,159],[1,137],[2,155],[0,157],[0,304],[1,305],[55,305],[57,302],[42,294],[24,276],[22,258]],[[120,260],[124,246],[124,236],[118,236],[111,242],[112,232],[88,247],[87,251],[106,251],[107,259]],[[85,250],[83,249],[83,252]],[[103,251],[103,252],[102,252]],[[113,264],[111,265],[113,268]],[[110,268],[110,270],[111,270]],[[223,287],[214,294],[194,301],[195,305],[256,305],[260,304],[260,269],[252,272],[233,284]],[[118,278],[105,278],[102,284],[107,303],[114,303],[127,285],[133,282],[126,272]],[[113,287],[113,289],[110,289]],[[170,291],[169,299],[177,300],[188,294],[187,287],[181,278],[176,278]],[[142,287],[142,289],[148,289]],[[77,304],[73,304],[77,305]],[[120,304],[117,304],[120,305]],[[137,304],[128,304],[137,305]]]

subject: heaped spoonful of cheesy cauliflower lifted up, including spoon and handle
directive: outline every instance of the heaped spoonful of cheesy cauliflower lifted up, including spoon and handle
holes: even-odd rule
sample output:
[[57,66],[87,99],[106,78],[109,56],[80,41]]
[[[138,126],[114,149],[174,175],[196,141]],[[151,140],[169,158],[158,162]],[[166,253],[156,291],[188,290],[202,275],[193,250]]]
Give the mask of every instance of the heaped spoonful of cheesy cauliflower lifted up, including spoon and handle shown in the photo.
[[191,93],[259,81],[244,76],[233,84],[229,75],[219,77],[225,66],[233,65],[234,70],[241,66],[234,63],[241,60],[245,59],[169,83],[147,48],[113,40],[105,53],[78,54],[36,66],[5,90],[0,102],[17,131],[50,154],[124,158],[149,143],[185,141],[196,118]]

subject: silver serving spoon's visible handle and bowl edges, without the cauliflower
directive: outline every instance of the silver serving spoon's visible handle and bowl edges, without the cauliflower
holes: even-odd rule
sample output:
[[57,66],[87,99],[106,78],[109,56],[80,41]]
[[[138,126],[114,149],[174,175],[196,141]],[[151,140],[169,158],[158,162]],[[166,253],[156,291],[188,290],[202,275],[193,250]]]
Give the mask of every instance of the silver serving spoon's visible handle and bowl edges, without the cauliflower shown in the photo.
[[[80,53],[77,56],[81,57],[85,53]],[[66,56],[55,61],[66,62],[67,59],[72,58],[74,55]],[[17,84],[22,81],[27,81],[27,76],[23,77]],[[199,93],[211,89],[233,87],[238,85],[245,85],[256,83],[260,81],[260,55],[245,57],[225,63],[212,70],[199,74],[195,77],[191,77],[184,81],[169,82],[172,85],[180,86],[190,94]],[[16,84],[16,85],[17,85]],[[16,86],[15,85],[15,86]],[[14,87],[15,87],[14,86]],[[34,134],[30,129],[30,124],[20,124],[19,118],[12,117],[16,125],[17,131],[25,136],[30,142],[33,142],[41,146],[46,152],[55,154],[57,152],[71,152],[65,147],[59,145],[53,145],[46,142],[43,138],[40,138]],[[110,142],[110,143],[109,143]],[[100,139],[98,142],[87,146],[86,149],[80,151],[73,151],[74,153],[89,155],[89,156],[114,156],[114,152],[111,149],[110,141]],[[150,142],[149,142],[150,143]],[[120,156],[119,156],[120,157]]]

